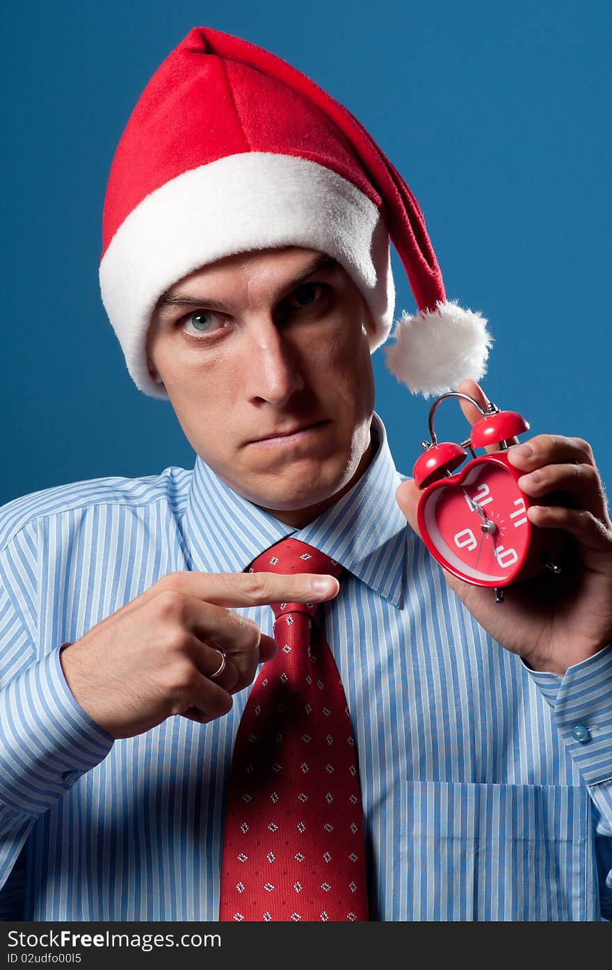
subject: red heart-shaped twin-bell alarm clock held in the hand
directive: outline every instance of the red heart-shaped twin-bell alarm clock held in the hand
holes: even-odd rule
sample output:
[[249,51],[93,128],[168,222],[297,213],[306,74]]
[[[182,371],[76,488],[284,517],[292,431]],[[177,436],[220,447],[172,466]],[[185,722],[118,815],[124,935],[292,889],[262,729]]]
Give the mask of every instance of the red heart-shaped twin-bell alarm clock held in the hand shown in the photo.
[[[471,434],[460,445],[437,443],[435,408],[446,398],[464,398],[482,414]],[[413,469],[423,495],[417,506],[417,523],[423,541],[435,560],[472,586],[490,586],[503,602],[503,587],[529,579],[550,569],[560,573],[558,562],[567,542],[561,530],[538,529],[528,518],[531,504],[554,501],[551,496],[531,500],[517,481],[524,473],[508,462],[508,442],[529,431],[530,425],[517,411],[500,411],[449,391],[432,405],[429,416],[431,441],[422,441],[424,454]],[[476,457],[474,448],[499,444],[501,450]],[[467,458],[472,461],[457,474]]]

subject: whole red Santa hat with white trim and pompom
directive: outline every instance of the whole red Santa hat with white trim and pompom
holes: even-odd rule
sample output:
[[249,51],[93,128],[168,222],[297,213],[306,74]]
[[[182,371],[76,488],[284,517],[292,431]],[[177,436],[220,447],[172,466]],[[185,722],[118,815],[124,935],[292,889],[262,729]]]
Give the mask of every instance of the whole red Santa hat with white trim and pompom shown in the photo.
[[363,125],[270,51],[194,27],[146,85],[114,154],[102,300],[137,386],[167,399],[146,366],[146,334],[178,279],[247,250],[319,250],[370,307],[373,352],[393,323],[389,237],[417,311],[397,321],[387,367],[426,397],[480,379],[487,321],[446,301],[421,210]]

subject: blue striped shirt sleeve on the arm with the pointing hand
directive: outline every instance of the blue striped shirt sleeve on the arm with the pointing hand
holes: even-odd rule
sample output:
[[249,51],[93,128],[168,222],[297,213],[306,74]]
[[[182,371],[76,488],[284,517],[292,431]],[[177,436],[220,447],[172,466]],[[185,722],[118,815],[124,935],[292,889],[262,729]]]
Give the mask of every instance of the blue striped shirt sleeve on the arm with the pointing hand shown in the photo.
[[68,687],[64,644],[37,656],[31,553],[26,536],[0,552],[0,888],[37,816],[113,747]]

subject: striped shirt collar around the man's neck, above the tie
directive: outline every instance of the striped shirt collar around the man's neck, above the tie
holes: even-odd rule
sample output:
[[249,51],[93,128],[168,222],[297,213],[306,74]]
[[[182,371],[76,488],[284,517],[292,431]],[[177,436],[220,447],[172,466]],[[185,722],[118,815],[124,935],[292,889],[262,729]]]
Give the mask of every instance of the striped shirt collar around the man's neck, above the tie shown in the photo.
[[375,411],[372,425],[379,443],[370,467],[352,489],[304,529],[280,522],[238,495],[198,456],[183,525],[190,567],[204,572],[242,572],[275,542],[293,535],[401,606],[406,538],[411,534],[395,497],[403,476],[395,468],[386,429]]

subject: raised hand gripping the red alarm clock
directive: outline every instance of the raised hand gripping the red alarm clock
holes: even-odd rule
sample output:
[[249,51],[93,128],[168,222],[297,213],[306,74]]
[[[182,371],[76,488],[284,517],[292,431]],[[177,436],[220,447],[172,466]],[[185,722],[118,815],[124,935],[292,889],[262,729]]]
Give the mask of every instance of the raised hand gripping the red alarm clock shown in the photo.
[[[457,390],[483,408],[488,404],[472,380],[461,381]],[[481,417],[472,404],[461,400],[461,406],[470,425]],[[525,446],[531,446],[530,455],[521,450]],[[486,448],[487,452],[497,450],[499,445]],[[547,573],[506,587],[502,606],[490,588],[466,583],[447,569],[443,569],[444,577],[501,646],[519,654],[534,670],[563,675],[568,666],[612,642],[612,522],[603,485],[591,446],[582,438],[538,435],[515,450],[510,448],[507,455],[510,464],[524,472],[518,485],[533,501],[550,501],[555,493],[558,504],[531,505],[526,514],[535,526],[573,536],[568,566],[561,575]],[[420,495],[412,478],[403,481],[396,492],[406,520],[419,535],[416,507]],[[478,501],[468,494],[466,499],[483,526],[485,519],[495,521],[491,509],[485,513]],[[483,542],[486,535],[483,531]]]

